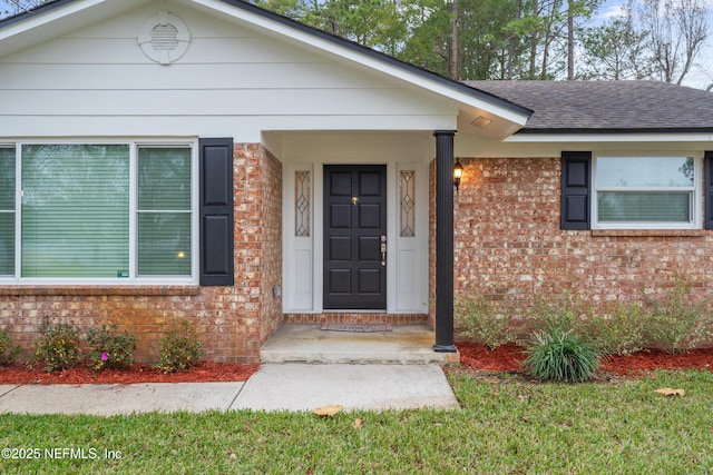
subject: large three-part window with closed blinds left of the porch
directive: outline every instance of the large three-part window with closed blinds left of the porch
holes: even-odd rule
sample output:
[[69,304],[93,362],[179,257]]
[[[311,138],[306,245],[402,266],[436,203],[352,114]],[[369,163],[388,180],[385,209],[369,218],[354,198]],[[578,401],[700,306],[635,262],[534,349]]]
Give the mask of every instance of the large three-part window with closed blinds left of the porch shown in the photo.
[[193,283],[195,149],[0,146],[0,279]]

